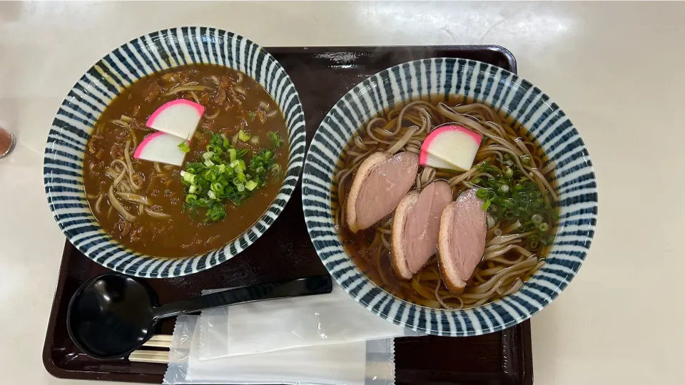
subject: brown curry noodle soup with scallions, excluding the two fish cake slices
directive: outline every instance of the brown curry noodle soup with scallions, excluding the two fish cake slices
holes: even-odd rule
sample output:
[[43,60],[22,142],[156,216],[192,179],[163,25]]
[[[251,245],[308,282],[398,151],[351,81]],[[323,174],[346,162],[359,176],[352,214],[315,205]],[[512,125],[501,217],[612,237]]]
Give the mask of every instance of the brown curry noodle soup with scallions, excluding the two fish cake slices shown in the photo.
[[[178,98],[205,107],[190,143],[179,139],[183,166],[134,159],[154,133],[148,117]],[[236,153],[239,175],[225,171]],[[285,119],[262,86],[223,66],[188,65],[142,78],[111,102],[88,142],[83,183],[114,239],[156,257],[189,257],[223,247],[257,222],[287,163]]]

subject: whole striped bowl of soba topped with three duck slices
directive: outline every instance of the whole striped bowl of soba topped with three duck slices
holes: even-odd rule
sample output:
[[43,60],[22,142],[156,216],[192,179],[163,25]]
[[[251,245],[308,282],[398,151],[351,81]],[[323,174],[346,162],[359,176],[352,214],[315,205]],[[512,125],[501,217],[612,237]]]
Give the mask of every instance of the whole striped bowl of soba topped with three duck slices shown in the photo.
[[539,88],[478,61],[371,76],[319,126],[303,207],[338,283],[380,317],[470,336],[524,321],[579,270],[597,221],[584,143]]

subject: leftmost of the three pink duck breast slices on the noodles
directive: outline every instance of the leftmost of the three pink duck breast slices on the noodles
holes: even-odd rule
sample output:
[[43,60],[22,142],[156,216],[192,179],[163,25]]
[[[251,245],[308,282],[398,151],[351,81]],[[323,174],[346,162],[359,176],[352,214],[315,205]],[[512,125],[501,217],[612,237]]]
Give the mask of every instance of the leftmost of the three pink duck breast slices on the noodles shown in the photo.
[[416,178],[419,157],[415,153],[373,153],[359,166],[347,195],[347,227],[364,230],[387,217]]

